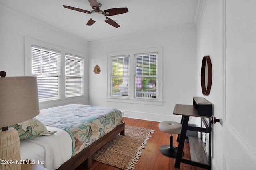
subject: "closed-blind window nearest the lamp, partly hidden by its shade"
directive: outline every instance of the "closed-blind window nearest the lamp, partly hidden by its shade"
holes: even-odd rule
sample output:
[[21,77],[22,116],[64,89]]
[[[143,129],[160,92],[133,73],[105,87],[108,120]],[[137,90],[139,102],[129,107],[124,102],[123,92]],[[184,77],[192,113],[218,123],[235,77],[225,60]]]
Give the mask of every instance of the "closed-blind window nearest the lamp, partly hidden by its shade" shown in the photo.
[[32,74],[37,76],[39,101],[60,99],[60,52],[32,46]]

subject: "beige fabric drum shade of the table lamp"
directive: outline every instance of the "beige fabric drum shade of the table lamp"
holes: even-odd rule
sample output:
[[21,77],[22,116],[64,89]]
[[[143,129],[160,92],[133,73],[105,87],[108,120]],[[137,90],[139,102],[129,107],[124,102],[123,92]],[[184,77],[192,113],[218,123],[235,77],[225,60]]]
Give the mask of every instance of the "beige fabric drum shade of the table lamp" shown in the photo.
[[36,77],[0,78],[0,127],[27,121],[38,114]]

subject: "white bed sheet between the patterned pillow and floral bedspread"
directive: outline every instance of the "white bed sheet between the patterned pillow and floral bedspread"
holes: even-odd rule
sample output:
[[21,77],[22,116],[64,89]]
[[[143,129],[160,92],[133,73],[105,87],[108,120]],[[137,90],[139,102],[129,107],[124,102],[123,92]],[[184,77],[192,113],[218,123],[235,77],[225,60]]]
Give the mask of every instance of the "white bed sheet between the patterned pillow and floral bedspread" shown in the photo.
[[29,159],[48,170],[55,170],[72,157],[72,139],[63,129],[50,126],[46,128],[57,133],[20,140],[21,160]]

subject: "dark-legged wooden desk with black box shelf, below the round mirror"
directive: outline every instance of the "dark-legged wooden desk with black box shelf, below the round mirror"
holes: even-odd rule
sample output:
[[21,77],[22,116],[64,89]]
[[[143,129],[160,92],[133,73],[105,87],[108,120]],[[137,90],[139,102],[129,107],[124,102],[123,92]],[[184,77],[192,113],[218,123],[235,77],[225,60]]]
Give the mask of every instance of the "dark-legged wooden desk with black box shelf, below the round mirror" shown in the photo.
[[[212,125],[210,123],[210,117],[212,116],[212,104],[202,97],[193,97],[193,105],[176,104],[173,114],[182,115],[182,129],[180,133],[178,152],[174,167],[180,168],[180,163],[182,162],[210,170],[212,145]],[[190,116],[201,117],[201,127],[188,126],[188,120]],[[207,119],[209,119],[209,121],[207,121]],[[205,127],[203,127],[203,123]],[[201,132],[201,138],[189,137],[191,160],[182,158],[182,151],[184,148],[187,130]],[[202,144],[203,132],[209,133],[208,158]]]

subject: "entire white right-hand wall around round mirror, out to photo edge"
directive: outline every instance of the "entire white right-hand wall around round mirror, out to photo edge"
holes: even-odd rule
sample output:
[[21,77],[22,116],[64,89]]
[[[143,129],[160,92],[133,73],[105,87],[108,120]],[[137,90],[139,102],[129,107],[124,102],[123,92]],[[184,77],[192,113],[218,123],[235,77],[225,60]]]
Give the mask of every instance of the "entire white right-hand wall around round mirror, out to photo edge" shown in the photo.
[[197,94],[202,57],[212,60],[212,169],[252,170],[256,167],[254,137],[254,57],[256,23],[253,0],[202,0],[197,25]]

